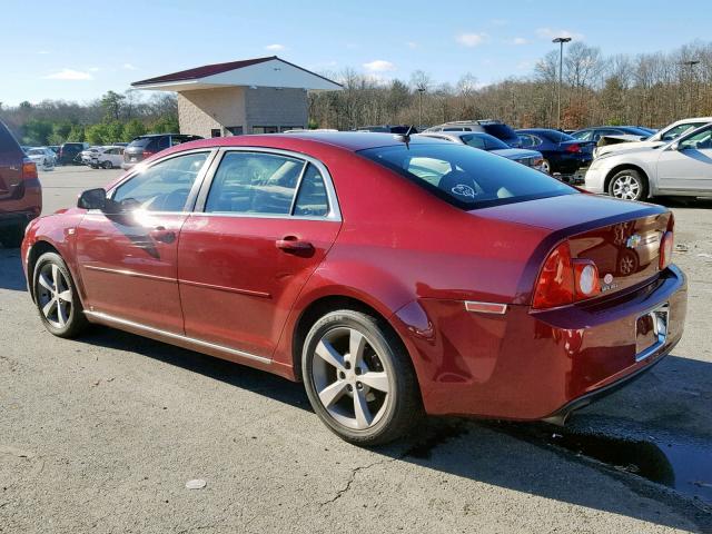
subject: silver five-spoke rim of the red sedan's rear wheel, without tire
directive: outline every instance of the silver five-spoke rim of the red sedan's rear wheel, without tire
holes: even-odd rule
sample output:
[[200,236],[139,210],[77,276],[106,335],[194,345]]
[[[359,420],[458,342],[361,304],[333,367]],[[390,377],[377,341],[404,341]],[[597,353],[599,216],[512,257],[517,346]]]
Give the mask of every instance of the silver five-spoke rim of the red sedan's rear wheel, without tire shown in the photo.
[[339,424],[367,429],[384,416],[392,380],[373,342],[350,327],[328,330],[314,350],[312,378],[319,402]]

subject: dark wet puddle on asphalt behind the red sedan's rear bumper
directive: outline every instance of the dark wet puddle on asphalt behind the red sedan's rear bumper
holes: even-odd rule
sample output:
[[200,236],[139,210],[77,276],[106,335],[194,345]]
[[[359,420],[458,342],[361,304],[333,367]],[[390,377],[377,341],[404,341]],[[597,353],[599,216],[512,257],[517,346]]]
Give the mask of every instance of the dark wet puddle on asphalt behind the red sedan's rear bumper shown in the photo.
[[682,434],[612,436],[546,424],[497,423],[491,428],[561,447],[712,504],[712,443]]

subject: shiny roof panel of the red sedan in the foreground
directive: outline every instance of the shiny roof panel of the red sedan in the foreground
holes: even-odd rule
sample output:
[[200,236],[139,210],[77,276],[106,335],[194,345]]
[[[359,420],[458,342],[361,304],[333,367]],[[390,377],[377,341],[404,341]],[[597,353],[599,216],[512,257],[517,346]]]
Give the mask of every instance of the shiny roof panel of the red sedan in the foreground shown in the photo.
[[[332,146],[349,151],[366,150],[368,148],[404,145],[403,136],[398,134],[380,134],[370,131],[314,131],[294,134],[264,134],[250,136],[229,136],[200,139],[177,145],[182,148],[200,147],[268,147],[298,150],[306,141],[323,146]],[[442,142],[436,139],[424,139],[413,135],[411,145],[431,145]]]

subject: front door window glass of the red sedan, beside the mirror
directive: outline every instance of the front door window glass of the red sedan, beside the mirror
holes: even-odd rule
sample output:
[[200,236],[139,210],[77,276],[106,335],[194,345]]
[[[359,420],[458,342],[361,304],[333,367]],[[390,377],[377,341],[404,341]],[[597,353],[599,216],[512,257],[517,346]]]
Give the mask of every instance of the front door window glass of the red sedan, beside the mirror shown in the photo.
[[111,199],[121,210],[182,211],[208,154],[186,154],[159,161],[117,187]]

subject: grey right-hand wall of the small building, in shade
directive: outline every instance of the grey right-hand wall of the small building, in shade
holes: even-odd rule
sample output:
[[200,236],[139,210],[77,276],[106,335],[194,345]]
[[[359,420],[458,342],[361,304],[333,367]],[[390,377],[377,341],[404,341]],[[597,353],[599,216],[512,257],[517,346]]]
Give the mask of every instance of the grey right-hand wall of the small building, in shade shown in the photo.
[[246,88],[245,109],[246,134],[251,134],[254,126],[306,128],[309,111],[307,91],[274,87]]

